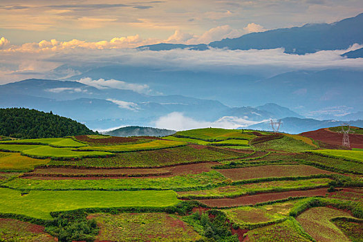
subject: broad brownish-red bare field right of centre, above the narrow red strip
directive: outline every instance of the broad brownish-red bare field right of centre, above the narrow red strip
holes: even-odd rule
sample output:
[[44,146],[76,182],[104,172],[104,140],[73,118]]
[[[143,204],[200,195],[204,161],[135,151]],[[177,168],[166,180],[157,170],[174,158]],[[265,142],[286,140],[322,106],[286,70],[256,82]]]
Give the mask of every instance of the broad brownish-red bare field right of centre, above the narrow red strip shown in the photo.
[[315,174],[333,174],[308,165],[265,165],[261,167],[243,167],[234,169],[218,169],[223,176],[232,180],[248,180],[254,178],[310,176]]

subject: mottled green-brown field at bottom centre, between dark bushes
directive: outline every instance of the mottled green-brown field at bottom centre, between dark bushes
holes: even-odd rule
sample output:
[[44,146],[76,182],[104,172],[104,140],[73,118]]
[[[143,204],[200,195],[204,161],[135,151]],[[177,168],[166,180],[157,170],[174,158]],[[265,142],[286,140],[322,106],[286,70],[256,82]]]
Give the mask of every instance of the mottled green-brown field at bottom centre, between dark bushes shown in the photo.
[[164,213],[91,214],[101,227],[99,241],[198,241],[203,237],[180,216]]

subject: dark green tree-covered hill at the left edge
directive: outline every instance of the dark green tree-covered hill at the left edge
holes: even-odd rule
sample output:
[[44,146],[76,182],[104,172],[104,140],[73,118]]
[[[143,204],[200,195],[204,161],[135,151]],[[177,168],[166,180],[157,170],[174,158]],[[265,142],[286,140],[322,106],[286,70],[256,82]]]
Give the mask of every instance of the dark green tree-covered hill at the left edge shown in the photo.
[[93,133],[86,125],[52,112],[24,108],[0,109],[0,136],[58,138]]

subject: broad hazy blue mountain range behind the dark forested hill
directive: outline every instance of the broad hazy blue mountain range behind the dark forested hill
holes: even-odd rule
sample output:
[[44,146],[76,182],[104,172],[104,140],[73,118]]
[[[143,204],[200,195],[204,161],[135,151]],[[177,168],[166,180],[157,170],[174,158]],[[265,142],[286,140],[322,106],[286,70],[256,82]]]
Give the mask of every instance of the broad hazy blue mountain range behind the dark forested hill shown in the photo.
[[172,112],[209,122],[223,117],[239,118],[241,126],[270,118],[302,117],[277,104],[230,108],[218,101],[182,95],[145,95],[130,90],[96,89],[79,82],[37,79],[0,86],[0,107],[14,106],[53,111],[79,120],[91,129],[129,124],[150,126]]

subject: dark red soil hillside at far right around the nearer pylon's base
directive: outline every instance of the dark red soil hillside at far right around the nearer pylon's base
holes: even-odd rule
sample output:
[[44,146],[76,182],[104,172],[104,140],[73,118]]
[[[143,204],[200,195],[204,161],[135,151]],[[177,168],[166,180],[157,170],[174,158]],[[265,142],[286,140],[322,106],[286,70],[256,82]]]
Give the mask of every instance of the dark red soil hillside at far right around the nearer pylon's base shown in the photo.
[[[300,133],[301,136],[312,138],[313,140],[319,140],[331,145],[342,145],[343,134],[335,133],[329,129],[318,129],[315,131],[309,131]],[[363,135],[349,133],[349,142],[352,148],[363,149]]]

